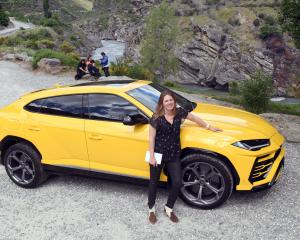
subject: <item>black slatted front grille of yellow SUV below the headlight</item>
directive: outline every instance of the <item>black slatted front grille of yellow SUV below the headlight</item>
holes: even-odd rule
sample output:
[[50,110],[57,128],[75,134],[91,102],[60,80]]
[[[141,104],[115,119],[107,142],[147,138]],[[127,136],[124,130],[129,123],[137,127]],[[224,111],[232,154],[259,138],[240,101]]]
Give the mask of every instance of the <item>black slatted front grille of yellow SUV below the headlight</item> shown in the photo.
[[281,147],[276,152],[257,157],[251,170],[249,182],[253,183],[265,179],[280,152]]

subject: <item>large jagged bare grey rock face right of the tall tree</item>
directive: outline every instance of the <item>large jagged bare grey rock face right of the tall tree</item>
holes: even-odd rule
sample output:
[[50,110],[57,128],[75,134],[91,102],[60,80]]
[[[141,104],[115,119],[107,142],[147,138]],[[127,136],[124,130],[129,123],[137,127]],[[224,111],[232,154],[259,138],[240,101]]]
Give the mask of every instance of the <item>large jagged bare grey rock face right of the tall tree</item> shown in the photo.
[[257,69],[272,74],[273,60],[263,49],[251,55],[218,26],[194,25],[194,37],[178,51],[181,71],[178,81],[228,89],[228,83],[250,77]]

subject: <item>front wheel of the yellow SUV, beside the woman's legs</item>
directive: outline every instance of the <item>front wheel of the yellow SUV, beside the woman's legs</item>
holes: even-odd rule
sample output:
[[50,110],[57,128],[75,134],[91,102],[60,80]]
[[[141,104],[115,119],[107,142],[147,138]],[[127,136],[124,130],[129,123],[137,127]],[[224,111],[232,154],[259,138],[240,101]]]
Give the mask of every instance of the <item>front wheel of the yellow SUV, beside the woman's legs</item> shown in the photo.
[[218,158],[191,154],[182,159],[180,197],[188,205],[213,209],[226,202],[232,191],[232,174]]

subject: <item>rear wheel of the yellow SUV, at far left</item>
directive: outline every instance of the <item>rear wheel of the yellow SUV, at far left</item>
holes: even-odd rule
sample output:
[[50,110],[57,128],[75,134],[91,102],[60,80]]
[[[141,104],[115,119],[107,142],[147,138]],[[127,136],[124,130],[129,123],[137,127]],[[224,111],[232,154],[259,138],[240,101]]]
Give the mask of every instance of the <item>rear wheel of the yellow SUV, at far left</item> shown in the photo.
[[48,176],[43,171],[40,155],[26,143],[17,143],[7,149],[4,166],[10,179],[23,188],[35,188]]

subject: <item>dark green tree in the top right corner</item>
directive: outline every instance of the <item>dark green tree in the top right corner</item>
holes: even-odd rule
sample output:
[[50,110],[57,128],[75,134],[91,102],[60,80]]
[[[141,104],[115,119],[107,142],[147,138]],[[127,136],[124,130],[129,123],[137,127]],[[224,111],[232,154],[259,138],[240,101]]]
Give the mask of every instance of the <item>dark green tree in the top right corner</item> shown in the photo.
[[283,29],[290,32],[296,47],[300,49],[300,0],[283,0],[280,6],[279,21]]

